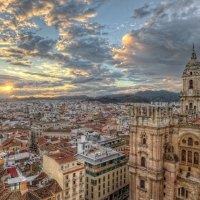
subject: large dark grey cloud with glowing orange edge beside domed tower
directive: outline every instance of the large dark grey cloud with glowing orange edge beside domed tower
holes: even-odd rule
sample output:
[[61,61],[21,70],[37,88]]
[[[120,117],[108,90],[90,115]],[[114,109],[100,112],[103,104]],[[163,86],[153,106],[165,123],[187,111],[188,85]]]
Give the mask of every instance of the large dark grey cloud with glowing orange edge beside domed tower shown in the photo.
[[122,48],[113,48],[113,58],[120,62],[115,67],[122,69],[135,87],[180,90],[192,43],[200,40],[198,2],[167,1],[145,4],[139,10],[148,14],[141,12],[138,18],[149,18],[123,37]]

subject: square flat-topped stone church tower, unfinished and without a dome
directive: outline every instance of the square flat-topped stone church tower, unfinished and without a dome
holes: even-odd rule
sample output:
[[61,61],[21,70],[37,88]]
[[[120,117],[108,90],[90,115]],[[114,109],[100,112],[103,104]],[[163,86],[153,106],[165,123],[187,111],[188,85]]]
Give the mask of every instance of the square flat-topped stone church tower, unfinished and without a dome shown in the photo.
[[[164,147],[170,141],[171,125],[172,108],[132,108],[129,156],[131,200],[163,199],[163,156]],[[170,149],[170,153],[172,151]]]

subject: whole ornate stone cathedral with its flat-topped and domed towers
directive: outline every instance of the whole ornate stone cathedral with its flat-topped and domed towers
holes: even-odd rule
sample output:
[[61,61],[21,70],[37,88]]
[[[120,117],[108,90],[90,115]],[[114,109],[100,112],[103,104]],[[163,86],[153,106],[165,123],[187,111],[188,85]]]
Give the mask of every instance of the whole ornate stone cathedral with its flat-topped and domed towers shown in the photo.
[[200,199],[200,62],[183,72],[180,114],[167,106],[132,107],[130,200]]

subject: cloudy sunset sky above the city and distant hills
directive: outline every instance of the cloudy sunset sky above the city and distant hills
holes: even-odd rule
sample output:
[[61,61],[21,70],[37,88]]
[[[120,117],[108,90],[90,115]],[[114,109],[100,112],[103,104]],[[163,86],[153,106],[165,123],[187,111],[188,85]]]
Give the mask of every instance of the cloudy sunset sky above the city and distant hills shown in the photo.
[[0,98],[180,92],[198,0],[0,0]]

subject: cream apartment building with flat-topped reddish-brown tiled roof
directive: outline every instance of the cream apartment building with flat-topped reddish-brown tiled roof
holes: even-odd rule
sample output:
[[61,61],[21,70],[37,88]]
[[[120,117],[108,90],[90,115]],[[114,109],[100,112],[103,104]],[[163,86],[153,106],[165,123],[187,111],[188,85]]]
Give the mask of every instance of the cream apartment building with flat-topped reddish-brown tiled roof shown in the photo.
[[63,190],[63,199],[85,199],[85,164],[65,153],[43,155],[43,171]]

